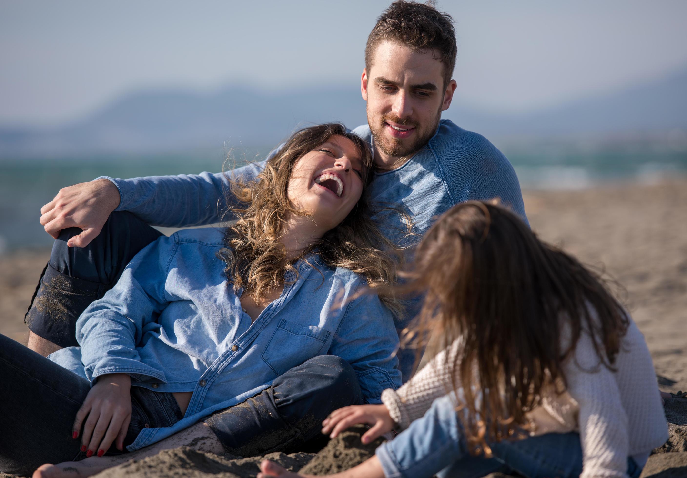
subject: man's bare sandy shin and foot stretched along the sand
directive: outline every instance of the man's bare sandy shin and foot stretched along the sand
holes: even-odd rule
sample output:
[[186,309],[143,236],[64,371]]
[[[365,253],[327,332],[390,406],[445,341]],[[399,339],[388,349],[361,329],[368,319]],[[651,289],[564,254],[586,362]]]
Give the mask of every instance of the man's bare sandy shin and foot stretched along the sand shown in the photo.
[[89,477],[112,466],[126,463],[131,459],[143,459],[157,455],[157,453],[163,450],[179,448],[179,446],[188,446],[194,450],[208,453],[225,453],[222,444],[217,440],[210,426],[207,426],[205,423],[197,423],[164,440],[131,453],[104,457],[93,456],[80,462],[65,462],[56,465],[45,464],[34,472],[34,478]]

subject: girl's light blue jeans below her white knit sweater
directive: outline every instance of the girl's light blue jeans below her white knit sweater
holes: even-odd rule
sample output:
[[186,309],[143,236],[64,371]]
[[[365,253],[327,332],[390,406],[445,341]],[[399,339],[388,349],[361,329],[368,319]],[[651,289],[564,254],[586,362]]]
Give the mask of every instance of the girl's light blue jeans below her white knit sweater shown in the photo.
[[[425,416],[412,422],[376,455],[385,477],[477,478],[489,473],[518,473],[528,478],[570,478],[582,473],[578,433],[548,433],[491,446],[493,458],[475,457],[466,449],[453,400],[435,400]],[[628,458],[627,474],[638,478],[642,468]]]

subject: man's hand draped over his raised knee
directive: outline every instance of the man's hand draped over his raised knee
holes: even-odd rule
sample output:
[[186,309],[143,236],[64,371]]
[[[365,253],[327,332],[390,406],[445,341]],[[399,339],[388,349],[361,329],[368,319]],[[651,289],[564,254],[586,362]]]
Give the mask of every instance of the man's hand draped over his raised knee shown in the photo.
[[79,227],[83,232],[69,239],[67,246],[86,247],[100,234],[118,205],[120,192],[107,179],[63,187],[52,201],[41,207],[41,225],[55,239],[62,229]]

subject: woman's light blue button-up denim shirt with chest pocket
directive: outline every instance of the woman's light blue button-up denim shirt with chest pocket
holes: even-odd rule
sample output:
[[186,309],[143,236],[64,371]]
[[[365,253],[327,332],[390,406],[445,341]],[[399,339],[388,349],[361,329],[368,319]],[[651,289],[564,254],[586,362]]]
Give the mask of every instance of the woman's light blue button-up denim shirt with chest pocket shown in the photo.
[[286,274],[280,297],[251,323],[243,291],[234,293],[216,257],[223,236],[224,229],[187,229],[149,244],[79,317],[81,346],[49,356],[91,383],[126,373],[133,386],[193,392],[180,422],[144,429],[130,451],[243,402],[317,355],[348,361],[368,403],[401,385],[394,321],[379,297],[358,294],[365,280],[313,255],[317,270],[297,262],[298,274]]

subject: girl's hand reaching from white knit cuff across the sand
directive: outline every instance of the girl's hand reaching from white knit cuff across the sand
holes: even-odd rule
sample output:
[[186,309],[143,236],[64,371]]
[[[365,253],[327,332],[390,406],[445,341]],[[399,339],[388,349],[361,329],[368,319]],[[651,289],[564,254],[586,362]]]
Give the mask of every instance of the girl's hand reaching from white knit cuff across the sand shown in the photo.
[[331,433],[330,438],[335,438],[349,426],[357,423],[367,423],[372,428],[365,432],[361,441],[370,443],[376,437],[384,435],[394,429],[396,422],[389,415],[385,405],[351,405],[335,410],[322,422],[322,433]]

